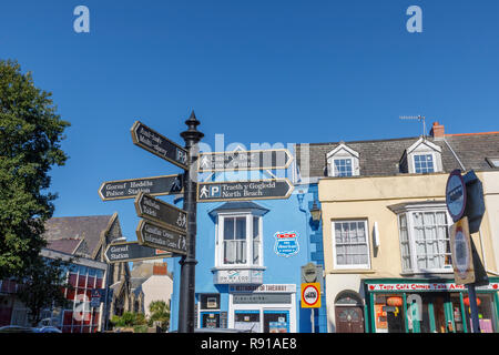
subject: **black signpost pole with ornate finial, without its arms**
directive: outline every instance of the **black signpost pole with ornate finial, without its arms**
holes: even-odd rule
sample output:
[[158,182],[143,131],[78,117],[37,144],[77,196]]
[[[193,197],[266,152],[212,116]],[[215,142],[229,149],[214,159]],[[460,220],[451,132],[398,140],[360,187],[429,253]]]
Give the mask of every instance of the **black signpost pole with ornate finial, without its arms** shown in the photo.
[[[184,172],[184,206],[187,212],[187,255],[182,256],[181,264],[181,285],[180,285],[180,305],[179,305],[179,333],[194,333],[195,316],[195,265],[196,261],[196,193],[197,183],[197,142],[204,134],[197,131],[200,124],[194,111],[185,121],[187,130],[181,133],[185,141],[189,169]],[[194,176],[194,179],[193,179]]]

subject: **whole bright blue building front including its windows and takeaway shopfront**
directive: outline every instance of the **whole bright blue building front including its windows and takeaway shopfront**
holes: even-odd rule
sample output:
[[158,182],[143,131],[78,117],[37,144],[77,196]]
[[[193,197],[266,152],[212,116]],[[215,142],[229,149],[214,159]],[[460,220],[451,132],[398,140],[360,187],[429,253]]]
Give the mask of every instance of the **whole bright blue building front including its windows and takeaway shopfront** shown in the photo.
[[[211,181],[271,176],[218,173]],[[318,203],[317,184],[295,184],[283,200],[197,203],[196,327],[327,332],[325,302],[314,311],[301,305],[302,266],[324,263],[322,225],[310,217],[314,201]],[[175,203],[181,206],[182,199]],[[171,331],[177,329],[182,302],[179,261],[172,265]]]

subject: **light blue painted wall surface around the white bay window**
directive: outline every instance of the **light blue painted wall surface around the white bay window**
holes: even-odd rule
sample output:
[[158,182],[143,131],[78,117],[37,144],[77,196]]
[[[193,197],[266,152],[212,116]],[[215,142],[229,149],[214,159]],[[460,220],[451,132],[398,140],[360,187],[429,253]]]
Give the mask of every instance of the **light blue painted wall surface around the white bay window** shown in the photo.
[[[316,194],[316,190],[315,190]],[[310,332],[310,311],[301,307],[301,267],[310,261],[310,245],[308,243],[310,226],[309,205],[314,193],[307,185],[295,186],[293,194],[286,200],[253,200],[253,203],[269,210],[263,216],[263,258],[266,270],[263,275],[264,284],[295,284],[296,293],[293,295],[296,313],[296,332]],[[181,202],[181,200],[179,201]],[[196,302],[198,293],[220,293],[221,311],[228,310],[228,285],[213,283],[213,267],[215,266],[215,223],[216,219],[210,212],[225,202],[197,203],[197,236],[196,236]],[[179,206],[182,203],[177,203]],[[305,210],[302,211],[302,210]],[[276,232],[296,232],[299,251],[297,254],[285,257],[275,253]],[[180,258],[173,258],[174,285],[172,294],[171,331],[177,329],[179,296],[180,296]],[[196,325],[197,326],[197,325]]]

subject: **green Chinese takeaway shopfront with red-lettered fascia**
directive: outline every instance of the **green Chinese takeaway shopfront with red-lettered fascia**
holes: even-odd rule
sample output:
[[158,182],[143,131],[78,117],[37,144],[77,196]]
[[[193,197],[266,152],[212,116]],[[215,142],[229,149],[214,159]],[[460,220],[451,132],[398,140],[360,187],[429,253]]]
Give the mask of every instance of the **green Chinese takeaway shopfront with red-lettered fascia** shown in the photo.
[[[451,281],[365,280],[370,333],[471,333],[467,287]],[[499,333],[499,277],[477,287],[480,331]]]

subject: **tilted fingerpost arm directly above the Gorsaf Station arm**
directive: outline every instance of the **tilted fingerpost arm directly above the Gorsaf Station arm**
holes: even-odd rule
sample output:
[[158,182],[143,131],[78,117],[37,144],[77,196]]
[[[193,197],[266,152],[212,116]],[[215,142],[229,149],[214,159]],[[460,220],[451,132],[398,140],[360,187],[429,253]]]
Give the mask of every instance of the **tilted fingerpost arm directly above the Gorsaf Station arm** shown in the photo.
[[187,241],[184,234],[146,220],[139,222],[136,237],[142,245],[175,254],[187,254]]

